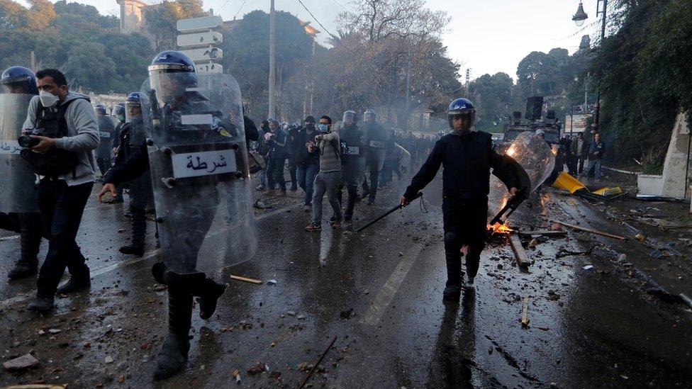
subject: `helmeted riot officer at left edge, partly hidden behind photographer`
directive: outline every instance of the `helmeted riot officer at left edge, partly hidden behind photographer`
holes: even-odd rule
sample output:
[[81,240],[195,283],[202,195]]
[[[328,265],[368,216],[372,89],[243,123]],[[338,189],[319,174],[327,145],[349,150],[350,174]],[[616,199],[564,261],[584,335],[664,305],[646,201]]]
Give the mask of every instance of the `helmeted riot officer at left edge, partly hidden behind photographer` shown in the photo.
[[[26,67],[14,66],[2,72],[0,77],[2,99],[0,109],[4,110],[4,124],[0,125],[0,142],[9,145],[16,142],[17,131],[26,118],[26,110],[31,97],[38,95],[35,74]],[[10,118],[15,117],[16,128],[10,125]],[[4,149],[4,147],[3,147]],[[0,194],[0,228],[18,232],[21,235],[21,252],[19,260],[9,271],[7,277],[18,280],[33,276],[38,271],[38,251],[41,237],[45,236],[41,214],[38,212],[38,192],[35,191],[33,172],[23,169],[25,164],[14,148],[12,152],[1,154],[4,161],[0,164],[2,179],[6,182]],[[20,162],[20,163],[17,163]],[[12,169],[4,171],[3,169]],[[14,188],[23,188],[14,191]],[[21,211],[21,212],[20,212]]]

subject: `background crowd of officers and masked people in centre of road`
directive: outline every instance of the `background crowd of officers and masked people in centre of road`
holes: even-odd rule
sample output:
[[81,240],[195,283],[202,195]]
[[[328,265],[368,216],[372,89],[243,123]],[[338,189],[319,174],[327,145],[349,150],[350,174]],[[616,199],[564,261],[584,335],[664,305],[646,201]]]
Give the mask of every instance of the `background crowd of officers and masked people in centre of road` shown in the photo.
[[340,228],[351,222],[358,200],[367,199],[373,205],[378,189],[391,183],[394,174],[401,179],[413,171],[437,139],[436,135],[417,137],[411,131],[403,135],[386,130],[373,110],[365,111],[362,121],[355,111],[346,111],[337,123],[328,115],[319,120],[308,115],[302,124],[269,118],[262,120],[252,145],[266,165],[259,172],[256,189],[267,196],[285,196],[287,190],[301,188],[303,209],[313,214],[307,231],[322,228],[322,203],[327,196],[333,210],[331,225]]

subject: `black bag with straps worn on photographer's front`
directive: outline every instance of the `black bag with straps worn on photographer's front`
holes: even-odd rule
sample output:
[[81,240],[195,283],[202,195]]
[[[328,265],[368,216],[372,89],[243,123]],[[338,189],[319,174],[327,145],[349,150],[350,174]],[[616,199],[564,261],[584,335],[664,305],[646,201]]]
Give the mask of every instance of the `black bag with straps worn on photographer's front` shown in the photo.
[[[62,104],[57,108],[56,139],[65,137],[65,135],[67,135],[67,121],[65,120],[65,112],[67,112],[67,106],[69,106],[72,101],[74,100],[70,100],[66,104]],[[35,123],[38,123],[39,119],[43,118],[44,111],[45,108],[43,108],[43,106],[41,106],[39,103],[36,108]],[[70,171],[72,171],[73,178],[77,175],[75,168],[79,164],[79,157],[77,156],[76,152],[58,150],[53,147],[45,154],[38,154],[38,152],[33,152],[29,149],[22,149],[19,154],[26,161],[30,169],[33,170],[34,174],[38,174],[39,176],[57,177],[62,174],[67,174]]]

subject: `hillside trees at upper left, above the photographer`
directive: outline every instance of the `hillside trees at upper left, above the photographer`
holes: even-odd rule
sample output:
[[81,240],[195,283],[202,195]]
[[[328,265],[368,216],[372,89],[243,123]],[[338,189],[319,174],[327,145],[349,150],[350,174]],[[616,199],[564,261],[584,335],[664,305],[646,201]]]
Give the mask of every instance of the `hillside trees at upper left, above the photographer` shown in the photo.
[[70,88],[126,93],[147,77],[155,54],[143,35],[118,33],[118,18],[102,16],[93,6],[29,0],[25,8],[0,0],[0,68],[30,66],[35,52],[39,69],[65,72]]

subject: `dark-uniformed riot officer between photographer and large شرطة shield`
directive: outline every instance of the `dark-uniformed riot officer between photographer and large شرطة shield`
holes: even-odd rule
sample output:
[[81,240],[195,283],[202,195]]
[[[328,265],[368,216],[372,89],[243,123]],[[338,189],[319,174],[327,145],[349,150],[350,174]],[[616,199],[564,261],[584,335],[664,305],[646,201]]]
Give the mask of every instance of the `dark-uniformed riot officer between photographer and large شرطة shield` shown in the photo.
[[[130,155],[137,152],[140,145],[145,142],[144,125],[142,120],[141,101],[145,97],[139,92],[128,95],[125,100],[126,122],[120,133],[120,147],[116,154],[115,169],[106,174],[105,183],[113,183],[112,176],[121,171]],[[130,226],[132,227],[132,240],[130,244],[120,248],[120,252],[128,255],[143,256],[145,248],[145,236],[147,232],[147,208],[153,205],[151,175],[147,173],[129,181],[130,185]]]

